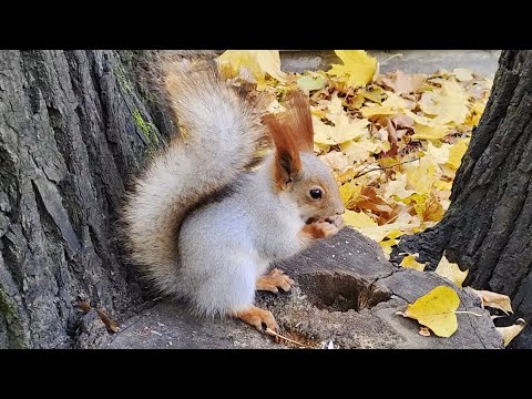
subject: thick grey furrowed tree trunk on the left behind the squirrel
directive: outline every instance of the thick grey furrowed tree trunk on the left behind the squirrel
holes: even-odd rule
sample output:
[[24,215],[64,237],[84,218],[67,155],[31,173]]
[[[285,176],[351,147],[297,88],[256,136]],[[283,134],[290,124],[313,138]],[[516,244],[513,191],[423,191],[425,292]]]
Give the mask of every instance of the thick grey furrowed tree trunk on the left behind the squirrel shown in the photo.
[[80,300],[119,318],[142,300],[115,222],[162,137],[126,53],[0,52],[0,348],[96,345]]

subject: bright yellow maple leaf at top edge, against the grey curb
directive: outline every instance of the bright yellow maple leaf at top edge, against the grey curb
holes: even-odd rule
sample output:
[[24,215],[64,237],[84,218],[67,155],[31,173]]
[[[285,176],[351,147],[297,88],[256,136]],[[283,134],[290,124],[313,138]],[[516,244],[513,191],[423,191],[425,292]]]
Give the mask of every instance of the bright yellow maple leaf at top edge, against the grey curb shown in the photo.
[[332,76],[347,76],[348,86],[366,85],[374,79],[377,60],[364,50],[335,50],[344,65],[332,64],[327,72]]

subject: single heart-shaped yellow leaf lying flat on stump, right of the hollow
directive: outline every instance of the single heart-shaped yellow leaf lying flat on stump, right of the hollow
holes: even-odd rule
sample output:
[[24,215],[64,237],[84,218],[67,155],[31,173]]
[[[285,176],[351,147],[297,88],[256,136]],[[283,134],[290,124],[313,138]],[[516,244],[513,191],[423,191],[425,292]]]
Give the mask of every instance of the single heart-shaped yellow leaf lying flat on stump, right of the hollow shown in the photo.
[[454,289],[438,286],[413,304],[409,304],[403,316],[418,320],[437,336],[448,338],[458,329],[454,311],[459,306],[460,298]]

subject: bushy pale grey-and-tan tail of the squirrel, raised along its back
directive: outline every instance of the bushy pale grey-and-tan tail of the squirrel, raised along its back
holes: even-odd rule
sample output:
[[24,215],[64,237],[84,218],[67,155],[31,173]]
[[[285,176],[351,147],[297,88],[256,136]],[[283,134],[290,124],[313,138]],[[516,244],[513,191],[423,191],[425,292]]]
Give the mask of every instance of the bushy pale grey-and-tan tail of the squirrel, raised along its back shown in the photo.
[[180,134],[135,182],[123,221],[134,263],[154,288],[177,294],[183,218],[254,161],[266,133],[259,110],[219,76],[214,62],[171,60],[160,66],[161,86]]

